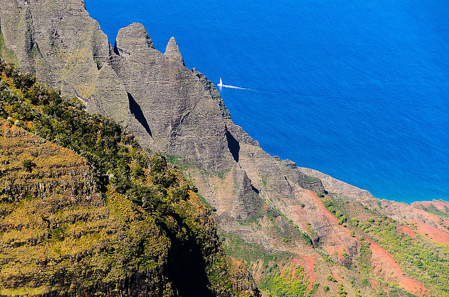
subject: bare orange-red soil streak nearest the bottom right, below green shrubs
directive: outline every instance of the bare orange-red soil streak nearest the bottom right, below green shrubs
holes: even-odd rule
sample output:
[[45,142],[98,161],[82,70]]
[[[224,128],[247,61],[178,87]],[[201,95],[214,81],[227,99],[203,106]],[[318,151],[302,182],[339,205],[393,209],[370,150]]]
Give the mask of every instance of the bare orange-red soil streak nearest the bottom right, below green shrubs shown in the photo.
[[[408,276],[404,276],[401,267],[395,262],[393,256],[382,248],[374,240],[365,237],[370,243],[370,249],[373,255],[371,261],[375,265],[374,274],[383,274],[385,278],[392,279],[393,283],[398,283],[401,287],[412,294],[423,296],[428,289],[422,284]],[[379,270],[382,269],[381,272]]]

